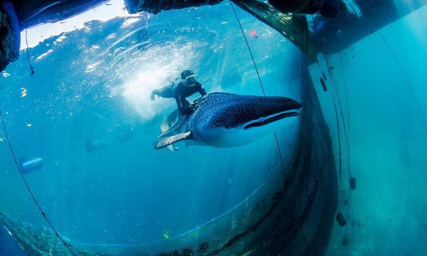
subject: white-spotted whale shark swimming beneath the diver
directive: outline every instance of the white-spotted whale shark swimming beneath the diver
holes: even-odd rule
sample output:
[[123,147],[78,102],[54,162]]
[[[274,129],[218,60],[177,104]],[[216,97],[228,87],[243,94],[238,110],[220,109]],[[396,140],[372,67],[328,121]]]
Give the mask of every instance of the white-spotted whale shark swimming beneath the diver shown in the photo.
[[251,143],[295,121],[301,104],[287,97],[210,93],[199,107],[153,142],[157,150],[178,141],[187,145],[235,147]]

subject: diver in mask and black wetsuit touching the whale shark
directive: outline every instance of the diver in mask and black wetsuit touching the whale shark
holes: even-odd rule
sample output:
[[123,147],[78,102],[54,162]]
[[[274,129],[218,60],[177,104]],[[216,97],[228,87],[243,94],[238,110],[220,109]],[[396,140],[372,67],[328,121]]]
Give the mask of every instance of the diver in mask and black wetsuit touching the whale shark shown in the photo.
[[184,70],[181,73],[181,81],[178,84],[172,82],[169,86],[155,89],[151,92],[150,98],[154,100],[155,95],[162,98],[175,98],[179,113],[188,115],[195,111],[199,105],[197,101],[190,103],[186,98],[197,92],[201,96],[207,95],[205,88],[196,81],[193,71]]

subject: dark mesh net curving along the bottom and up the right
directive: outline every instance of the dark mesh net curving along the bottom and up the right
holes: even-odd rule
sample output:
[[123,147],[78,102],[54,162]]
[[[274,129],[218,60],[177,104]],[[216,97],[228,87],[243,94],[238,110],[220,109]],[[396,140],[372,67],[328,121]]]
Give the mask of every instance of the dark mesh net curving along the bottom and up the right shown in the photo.
[[[303,65],[303,64],[301,64]],[[307,70],[302,66],[301,70]],[[225,214],[167,241],[148,244],[86,244],[64,237],[75,254],[193,255],[282,253],[318,254],[324,251],[333,222],[337,180],[328,130],[307,71],[301,74],[302,111],[294,152],[282,152],[284,169],[278,162],[268,170],[269,178],[247,199]],[[297,128],[296,128],[297,127]],[[54,242],[54,232],[0,215],[16,241],[30,254],[67,254]],[[320,239],[321,238],[321,239]]]

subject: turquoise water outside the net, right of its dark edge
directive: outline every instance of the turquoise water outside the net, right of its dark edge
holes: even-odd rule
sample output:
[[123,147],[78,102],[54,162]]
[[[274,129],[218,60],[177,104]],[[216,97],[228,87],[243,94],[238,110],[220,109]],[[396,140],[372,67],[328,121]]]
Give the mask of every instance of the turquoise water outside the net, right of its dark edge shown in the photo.
[[[354,225],[347,229],[337,225],[332,233],[335,243],[328,254],[341,253],[343,237],[351,240],[344,253],[354,255],[426,253],[427,133],[423,119],[427,91],[422,70],[426,68],[427,41],[422,32],[425,25],[420,22],[426,12],[423,7],[330,56],[344,120],[350,115],[347,131],[357,189],[351,194],[349,207],[350,224]],[[322,61],[320,58],[320,66],[312,67],[316,82],[318,72],[327,73]],[[319,82],[317,91],[334,134],[337,126],[332,95],[323,93]],[[340,124],[341,135],[343,130]],[[337,149],[336,136],[334,143]],[[348,161],[347,151],[342,154]],[[342,177],[348,179],[347,163],[343,164]],[[344,188],[348,191],[348,185]],[[343,200],[347,198],[342,194],[340,199],[345,212],[348,209]]]

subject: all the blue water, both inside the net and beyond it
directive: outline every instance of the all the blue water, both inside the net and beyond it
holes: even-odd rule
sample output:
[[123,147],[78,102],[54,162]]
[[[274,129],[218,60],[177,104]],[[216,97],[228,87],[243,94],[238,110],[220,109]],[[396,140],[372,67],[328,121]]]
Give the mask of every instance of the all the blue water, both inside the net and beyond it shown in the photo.
[[[237,14],[266,95],[300,100],[299,50],[246,12],[237,9]],[[336,89],[329,75],[327,92],[319,82],[321,72],[330,69],[324,56],[309,67],[338,170],[340,131],[338,210],[350,217],[344,228],[334,222],[327,255],[427,253],[426,14],[421,8],[328,56]],[[251,37],[250,30],[259,37]],[[149,95],[182,70],[193,70],[208,92],[262,95],[228,2],[91,20],[30,47],[29,56],[34,76],[23,49],[0,77],[0,107],[16,158],[44,160],[42,170],[25,176],[34,197],[58,233],[76,244],[163,242],[165,230],[171,238],[180,236],[245,204],[279,163],[273,134],[235,148],[183,143],[174,153],[152,148],[160,122],[176,104],[152,102]],[[221,87],[223,75],[233,73],[242,81]],[[338,129],[334,100],[341,102]],[[295,122],[277,131],[285,158],[295,149],[297,127]],[[120,140],[126,131],[135,137]],[[16,170],[3,130],[0,138],[0,210],[47,226]],[[90,153],[88,139],[106,140],[107,146]],[[350,197],[348,162],[357,178]],[[350,244],[343,246],[343,238]]]

